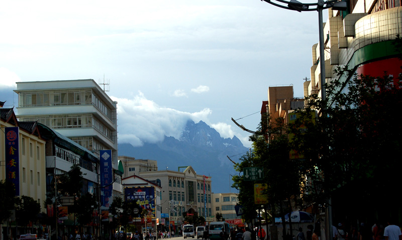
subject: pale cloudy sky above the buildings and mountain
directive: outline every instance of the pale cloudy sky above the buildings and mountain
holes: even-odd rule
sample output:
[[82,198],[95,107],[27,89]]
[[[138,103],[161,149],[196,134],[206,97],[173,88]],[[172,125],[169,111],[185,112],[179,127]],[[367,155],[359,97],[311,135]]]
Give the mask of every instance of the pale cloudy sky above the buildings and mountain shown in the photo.
[[5,107],[16,82],[108,83],[118,141],[134,146],[202,120],[250,147],[231,118],[256,130],[270,86],[303,97],[319,39],[317,12],[260,0],[2,1],[0,33]]

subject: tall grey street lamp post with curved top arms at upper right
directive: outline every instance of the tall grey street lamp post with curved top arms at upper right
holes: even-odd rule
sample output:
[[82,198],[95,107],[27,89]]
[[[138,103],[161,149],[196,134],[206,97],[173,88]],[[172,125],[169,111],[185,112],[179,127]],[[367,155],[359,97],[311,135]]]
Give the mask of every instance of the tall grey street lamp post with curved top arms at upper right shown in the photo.
[[[282,8],[282,9],[287,9],[287,10],[293,10],[297,12],[302,12],[302,11],[317,11],[318,12],[318,27],[319,27],[319,35],[320,35],[320,71],[321,71],[321,78],[320,78],[320,83],[321,83],[321,99],[324,103],[323,105],[323,110],[327,108],[327,93],[326,93],[326,78],[325,78],[325,56],[324,56],[324,28],[323,28],[323,10],[324,9],[329,9],[332,8],[333,10],[338,10],[338,11],[344,11],[347,10],[347,3],[342,2],[342,0],[318,0],[317,3],[311,3],[311,4],[304,4],[300,3],[296,0],[290,0],[290,1],[285,1],[285,0],[261,0],[264,1],[268,4],[271,4],[273,6]],[[331,202],[331,198],[329,199]],[[332,236],[332,207],[331,204],[329,204],[328,207],[328,232],[329,236]]]

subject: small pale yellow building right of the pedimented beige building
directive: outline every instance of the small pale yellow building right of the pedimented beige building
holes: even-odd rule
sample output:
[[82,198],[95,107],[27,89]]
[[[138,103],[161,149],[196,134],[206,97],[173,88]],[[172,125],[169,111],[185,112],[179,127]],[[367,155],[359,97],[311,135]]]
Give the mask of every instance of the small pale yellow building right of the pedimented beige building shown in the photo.
[[[213,215],[219,212],[222,214],[222,217],[225,218],[225,221],[229,222],[231,225],[239,225],[241,221],[235,219],[241,219],[241,216],[236,215],[235,206],[238,203],[237,199],[238,193],[230,192],[230,193],[213,193],[212,201],[213,201]],[[237,224],[236,224],[237,223]]]

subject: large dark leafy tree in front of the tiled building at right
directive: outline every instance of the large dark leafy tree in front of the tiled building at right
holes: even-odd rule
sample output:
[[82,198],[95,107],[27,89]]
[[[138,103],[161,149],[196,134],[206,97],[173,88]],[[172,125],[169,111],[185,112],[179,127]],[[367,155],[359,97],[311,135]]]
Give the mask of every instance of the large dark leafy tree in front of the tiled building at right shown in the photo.
[[[402,103],[401,78],[358,76],[347,68],[337,74],[348,81],[327,84],[326,102],[310,96],[309,108],[289,126],[292,147],[305,156],[300,173],[310,189],[304,200],[325,204],[331,197],[342,217],[365,221],[370,208],[385,218],[400,212],[387,192],[401,183],[395,168],[402,154],[402,115],[395,112]],[[320,112],[314,123],[308,120],[312,109]]]

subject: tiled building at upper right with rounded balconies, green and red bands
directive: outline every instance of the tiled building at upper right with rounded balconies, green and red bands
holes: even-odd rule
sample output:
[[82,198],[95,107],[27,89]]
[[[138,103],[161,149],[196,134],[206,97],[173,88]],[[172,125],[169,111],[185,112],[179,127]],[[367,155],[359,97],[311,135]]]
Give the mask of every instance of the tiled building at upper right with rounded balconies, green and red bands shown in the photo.
[[396,35],[402,34],[400,0],[353,0],[347,11],[328,10],[324,25],[325,56],[320,57],[319,44],[312,48],[311,80],[305,82],[304,94],[321,96],[320,58],[325,61],[326,82],[346,77],[337,76],[337,67],[348,66],[357,74],[394,77],[400,73],[402,62],[392,46]]

